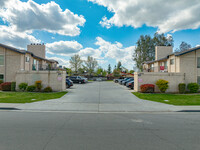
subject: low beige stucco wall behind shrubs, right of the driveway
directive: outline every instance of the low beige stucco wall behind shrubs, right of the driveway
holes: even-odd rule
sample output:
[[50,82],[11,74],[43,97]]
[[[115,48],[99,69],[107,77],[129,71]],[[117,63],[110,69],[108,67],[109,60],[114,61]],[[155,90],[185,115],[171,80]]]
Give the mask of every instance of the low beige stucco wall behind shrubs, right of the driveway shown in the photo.
[[[167,80],[169,82],[169,88],[166,91],[169,93],[178,92],[178,84],[185,83],[185,75],[183,73],[135,72],[134,90],[139,92],[142,84],[156,85],[156,81],[159,79]],[[160,92],[157,86],[155,86],[155,92]]]

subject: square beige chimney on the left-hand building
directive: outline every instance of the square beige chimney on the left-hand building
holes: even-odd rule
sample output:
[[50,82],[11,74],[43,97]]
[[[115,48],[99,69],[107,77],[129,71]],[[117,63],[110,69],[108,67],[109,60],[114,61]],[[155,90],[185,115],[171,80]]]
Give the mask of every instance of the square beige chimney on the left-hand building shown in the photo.
[[31,43],[30,45],[27,45],[27,51],[32,52],[35,56],[45,58],[46,55],[46,47],[42,44],[35,44]]

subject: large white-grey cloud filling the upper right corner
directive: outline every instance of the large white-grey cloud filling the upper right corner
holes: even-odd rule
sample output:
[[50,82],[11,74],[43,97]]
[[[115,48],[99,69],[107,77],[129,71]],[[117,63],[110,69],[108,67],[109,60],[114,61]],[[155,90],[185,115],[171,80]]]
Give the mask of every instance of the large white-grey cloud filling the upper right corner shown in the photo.
[[158,27],[158,31],[175,32],[183,29],[200,27],[199,0],[88,0],[107,7],[114,15],[106,16],[100,22],[110,28],[112,25],[121,27],[141,27],[143,24]]

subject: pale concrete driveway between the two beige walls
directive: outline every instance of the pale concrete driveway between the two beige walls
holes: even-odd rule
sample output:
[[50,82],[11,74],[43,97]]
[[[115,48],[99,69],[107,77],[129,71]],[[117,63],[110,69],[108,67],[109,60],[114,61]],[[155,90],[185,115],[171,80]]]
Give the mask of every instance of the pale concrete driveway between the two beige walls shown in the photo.
[[126,87],[113,82],[76,84],[58,100],[20,105],[23,110],[87,111],[87,112],[147,112],[176,111],[173,105],[145,101],[134,96]]

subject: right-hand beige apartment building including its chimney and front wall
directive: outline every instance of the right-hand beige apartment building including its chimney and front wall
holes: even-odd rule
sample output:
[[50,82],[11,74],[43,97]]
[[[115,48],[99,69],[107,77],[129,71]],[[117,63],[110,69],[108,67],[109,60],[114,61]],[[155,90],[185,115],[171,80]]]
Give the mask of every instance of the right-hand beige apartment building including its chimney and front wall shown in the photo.
[[155,84],[159,79],[169,81],[167,92],[178,92],[179,83],[200,84],[200,46],[174,53],[171,46],[157,46],[155,60],[145,62],[135,79],[136,91],[141,84]]

